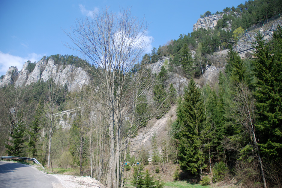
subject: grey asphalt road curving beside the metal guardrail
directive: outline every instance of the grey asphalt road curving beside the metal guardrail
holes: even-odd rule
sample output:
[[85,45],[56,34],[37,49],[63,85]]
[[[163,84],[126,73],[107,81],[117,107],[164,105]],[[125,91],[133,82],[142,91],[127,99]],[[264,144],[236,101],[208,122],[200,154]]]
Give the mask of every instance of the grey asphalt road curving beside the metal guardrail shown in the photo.
[[0,187],[26,188],[61,187],[61,183],[52,175],[45,174],[33,166],[0,161]]

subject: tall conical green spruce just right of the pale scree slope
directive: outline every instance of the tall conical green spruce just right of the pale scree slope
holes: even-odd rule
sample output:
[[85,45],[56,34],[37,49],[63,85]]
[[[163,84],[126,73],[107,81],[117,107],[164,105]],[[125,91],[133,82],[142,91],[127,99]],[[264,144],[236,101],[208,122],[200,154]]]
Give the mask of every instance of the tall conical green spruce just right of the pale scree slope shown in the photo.
[[179,100],[176,123],[180,131],[175,135],[179,143],[179,165],[182,170],[195,175],[202,174],[202,130],[206,120],[199,88],[193,79],[184,91],[184,100]]

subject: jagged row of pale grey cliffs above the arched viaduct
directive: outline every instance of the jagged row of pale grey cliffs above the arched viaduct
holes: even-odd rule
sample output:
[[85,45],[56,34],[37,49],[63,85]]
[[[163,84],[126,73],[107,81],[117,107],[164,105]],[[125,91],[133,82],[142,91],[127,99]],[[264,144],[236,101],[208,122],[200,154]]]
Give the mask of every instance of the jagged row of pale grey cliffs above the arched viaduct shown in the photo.
[[22,87],[38,82],[42,79],[44,82],[52,78],[59,85],[67,85],[68,91],[78,91],[83,85],[89,83],[87,73],[80,67],[73,65],[58,65],[52,59],[48,62],[40,60],[36,63],[32,72],[26,70],[28,62],[26,62],[21,71],[17,71],[16,67],[10,67],[6,75],[0,80],[0,87],[15,83],[15,87]]

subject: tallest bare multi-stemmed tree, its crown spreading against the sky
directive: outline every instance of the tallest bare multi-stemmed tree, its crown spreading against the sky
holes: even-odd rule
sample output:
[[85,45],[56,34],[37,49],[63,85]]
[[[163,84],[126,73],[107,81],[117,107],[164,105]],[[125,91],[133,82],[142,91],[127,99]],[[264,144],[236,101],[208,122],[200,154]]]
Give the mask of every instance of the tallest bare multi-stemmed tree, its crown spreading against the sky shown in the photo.
[[146,29],[143,21],[131,16],[130,9],[119,14],[105,9],[92,18],[76,20],[76,25],[66,33],[75,47],[67,46],[79,51],[93,65],[85,67],[92,76],[89,87],[98,98],[92,107],[103,114],[108,126],[107,187],[123,186],[121,156],[128,138],[138,130],[130,125],[125,131],[126,117],[134,111],[137,98],[150,87],[144,84],[150,77],[145,68],[135,74],[131,71],[149,45]]

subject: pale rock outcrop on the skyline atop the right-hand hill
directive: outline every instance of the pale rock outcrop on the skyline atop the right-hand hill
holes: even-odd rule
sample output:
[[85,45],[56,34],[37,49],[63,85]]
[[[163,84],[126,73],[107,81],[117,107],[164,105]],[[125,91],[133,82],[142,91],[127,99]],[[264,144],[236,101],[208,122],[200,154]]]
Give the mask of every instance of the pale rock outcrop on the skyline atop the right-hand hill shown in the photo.
[[193,31],[199,28],[213,29],[217,25],[217,21],[222,19],[223,14],[215,14],[212,16],[199,18],[198,21],[193,25]]

